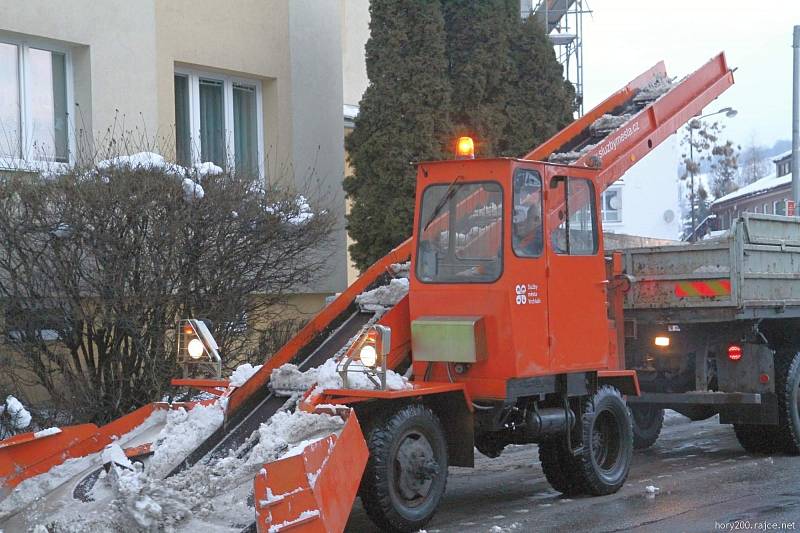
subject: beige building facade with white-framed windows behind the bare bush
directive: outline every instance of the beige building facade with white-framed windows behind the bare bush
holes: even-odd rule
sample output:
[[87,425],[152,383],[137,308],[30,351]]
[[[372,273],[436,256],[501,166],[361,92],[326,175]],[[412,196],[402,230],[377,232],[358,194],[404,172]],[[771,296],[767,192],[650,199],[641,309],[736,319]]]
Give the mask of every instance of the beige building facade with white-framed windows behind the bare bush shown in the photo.
[[321,191],[341,224],[304,308],[346,286],[339,1],[0,0],[0,166],[36,170],[145,136]]

